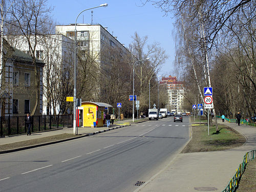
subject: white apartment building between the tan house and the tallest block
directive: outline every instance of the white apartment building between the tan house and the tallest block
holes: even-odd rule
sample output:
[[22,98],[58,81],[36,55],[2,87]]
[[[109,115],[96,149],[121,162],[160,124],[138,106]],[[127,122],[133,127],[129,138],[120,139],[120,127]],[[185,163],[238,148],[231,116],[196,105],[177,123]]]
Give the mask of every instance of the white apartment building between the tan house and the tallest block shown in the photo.
[[[35,37],[31,36],[31,42]],[[9,44],[26,54],[30,54],[29,45],[24,35],[6,36]],[[34,46],[34,45],[32,45]],[[44,94],[40,95],[42,100],[42,114],[58,114],[59,102],[55,92],[63,74],[67,74],[73,69],[74,42],[65,35],[37,35],[37,45],[35,48],[36,58],[45,62],[42,82]],[[49,102],[50,100],[50,102]],[[49,111],[51,109],[51,111]]]

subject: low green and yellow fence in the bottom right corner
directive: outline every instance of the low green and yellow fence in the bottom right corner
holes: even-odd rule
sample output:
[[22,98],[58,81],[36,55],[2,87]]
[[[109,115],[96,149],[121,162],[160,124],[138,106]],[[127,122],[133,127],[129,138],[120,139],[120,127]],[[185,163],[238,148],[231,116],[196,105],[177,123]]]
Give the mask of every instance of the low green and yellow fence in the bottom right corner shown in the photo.
[[244,173],[246,164],[254,159],[256,150],[247,152],[244,155],[243,162],[239,165],[238,169],[236,170],[236,174],[230,179],[227,187],[222,192],[233,192],[236,191],[238,188],[239,181]]

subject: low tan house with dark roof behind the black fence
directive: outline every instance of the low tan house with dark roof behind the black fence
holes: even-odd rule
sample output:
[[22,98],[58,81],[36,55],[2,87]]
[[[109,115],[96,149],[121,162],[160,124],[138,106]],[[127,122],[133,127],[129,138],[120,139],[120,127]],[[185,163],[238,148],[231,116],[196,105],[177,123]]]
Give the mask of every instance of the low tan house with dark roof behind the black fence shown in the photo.
[[[8,47],[8,51],[5,51]],[[11,48],[5,41],[4,68],[1,75],[1,116],[24,116],[36,103],[35,69],[30,55]],[[11,53],[10,53],[11,52]],[[8,56],[7,56],[8,54]],[[35,115],[42,113],[42,71],[44,62],[36,60],[40,79],[39,105]]]

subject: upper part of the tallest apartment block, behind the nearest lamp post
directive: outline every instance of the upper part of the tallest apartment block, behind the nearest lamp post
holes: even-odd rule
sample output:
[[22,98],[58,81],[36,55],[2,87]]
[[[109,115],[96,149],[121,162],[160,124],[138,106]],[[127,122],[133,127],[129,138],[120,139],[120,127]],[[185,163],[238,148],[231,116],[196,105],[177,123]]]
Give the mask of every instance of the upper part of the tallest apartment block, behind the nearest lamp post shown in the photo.
[[[75,25],[57,25],[55,27],[56,34],[66,35],[74,40]],[[118,50],[119,56],[130,54],[121,42],[101,25],[76,24],[77,45],[82,50],[86,50],[90,55],[94,55],[101,68],[108,66],[113,60],[115,54],[111,54],[111,49]]]

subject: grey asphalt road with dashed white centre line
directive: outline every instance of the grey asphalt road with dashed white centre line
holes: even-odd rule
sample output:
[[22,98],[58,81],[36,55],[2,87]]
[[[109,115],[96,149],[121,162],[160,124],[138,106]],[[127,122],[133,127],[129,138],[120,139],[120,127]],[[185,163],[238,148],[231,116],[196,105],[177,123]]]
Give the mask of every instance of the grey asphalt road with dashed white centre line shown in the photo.
[[189,139],[173,117],[0,155],[0,191],[134,191]]

